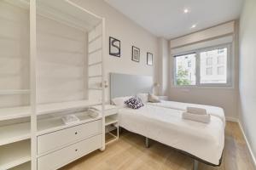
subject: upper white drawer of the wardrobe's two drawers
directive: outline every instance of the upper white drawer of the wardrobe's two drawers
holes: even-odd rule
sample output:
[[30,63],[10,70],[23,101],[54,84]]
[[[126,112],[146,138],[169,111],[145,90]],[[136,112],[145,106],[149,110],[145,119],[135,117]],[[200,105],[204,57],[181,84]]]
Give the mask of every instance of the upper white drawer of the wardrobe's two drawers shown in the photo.
[[102,132],[102,120],[38,136],[38,155]]

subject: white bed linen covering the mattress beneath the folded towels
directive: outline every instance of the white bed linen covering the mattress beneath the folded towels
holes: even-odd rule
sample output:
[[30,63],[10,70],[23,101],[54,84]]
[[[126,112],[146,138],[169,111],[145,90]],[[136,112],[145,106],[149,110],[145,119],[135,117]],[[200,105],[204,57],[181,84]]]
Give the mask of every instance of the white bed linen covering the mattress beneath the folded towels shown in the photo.
[[138,110],[125,107],[119,109],[119,126],[218,165],[224,149],[224,123],[216,116],[208,124],[184,120],[182,112],[154,105]]

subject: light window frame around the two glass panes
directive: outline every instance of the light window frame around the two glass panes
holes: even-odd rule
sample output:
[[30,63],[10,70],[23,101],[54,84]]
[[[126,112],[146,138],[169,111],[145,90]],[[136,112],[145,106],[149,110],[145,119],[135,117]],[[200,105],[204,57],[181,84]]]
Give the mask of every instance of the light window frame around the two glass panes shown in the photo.
[[[202,52],[211,51],[218,48],[227,48],[227,82],[226,83],[200,83],[201,82],[201,57]],[[177,85],[176,83],[176,58],[178,56],[186,54],[195,54],[195,85]],[[178,54],[172,54],[172,87],[174,88],[234,88],[233,87],[233,53],[232,43],[225,43],[208,48],[198,48],[181,52]]]

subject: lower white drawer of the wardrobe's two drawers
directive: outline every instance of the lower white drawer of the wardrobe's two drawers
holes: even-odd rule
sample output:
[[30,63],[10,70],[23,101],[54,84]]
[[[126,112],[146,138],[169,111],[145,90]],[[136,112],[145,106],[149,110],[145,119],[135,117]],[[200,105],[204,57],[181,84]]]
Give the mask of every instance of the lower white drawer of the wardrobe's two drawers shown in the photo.
[[102,147],[102,134],[98,134],[90,139],[85,139],[79,143],[69,145],[61,150],[56,150],[48,155],[38,158],[38,170],[54,170],[63,167]]

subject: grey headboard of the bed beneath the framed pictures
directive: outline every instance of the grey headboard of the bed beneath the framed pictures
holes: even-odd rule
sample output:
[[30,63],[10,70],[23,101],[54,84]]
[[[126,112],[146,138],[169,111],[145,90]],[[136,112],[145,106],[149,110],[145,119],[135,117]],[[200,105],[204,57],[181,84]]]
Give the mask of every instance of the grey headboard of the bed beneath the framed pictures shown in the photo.
[[110,99],[152,92],[153,84],[150,76],[110,73]]

